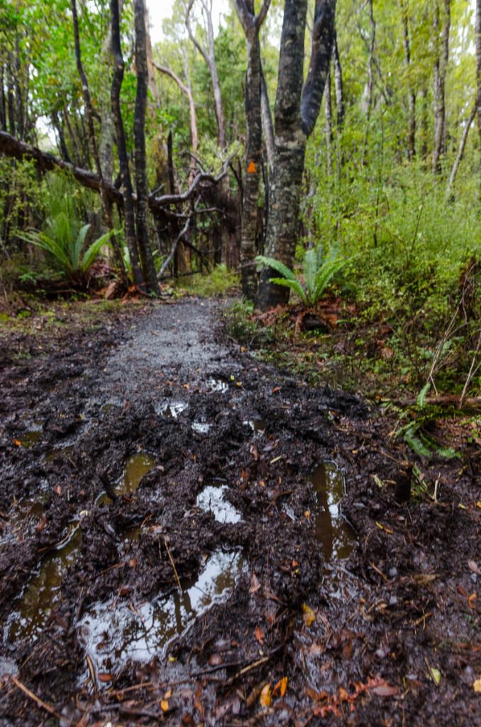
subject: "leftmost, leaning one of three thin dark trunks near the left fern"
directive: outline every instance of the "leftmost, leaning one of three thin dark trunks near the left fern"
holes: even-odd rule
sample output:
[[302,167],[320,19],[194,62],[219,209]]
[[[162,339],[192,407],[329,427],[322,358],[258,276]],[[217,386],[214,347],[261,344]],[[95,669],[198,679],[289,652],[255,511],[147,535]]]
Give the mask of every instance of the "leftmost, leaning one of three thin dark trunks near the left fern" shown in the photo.
[[124,284],[124,286],[126,288],[128,288],[129,280],[127,278],[127,273],[125,270],[124,258],[121,255],[121,251],[120,251],[120,248],[118,247],[118,242],[117,242],[116,236],[113,233],[112,210],[110,209],[110,203],[108,201],[107,194],[105,193],[102,166],[100,166],[100,157],[99,157],[99,153],[97,150],[97,142],[95,141],[94,114],[93,114],[93,109],[92,109],[92,100],[90,98],[90,92],[89,92],[89,82],[87,81],[87,77],[85,75],[84,67],[82,65],[82,60],[81,60],[80,35],[78,33],[78,17],[77,17],[76,0],[71,0],[71,7],[72,7],[72,18],[73,18],[73,37],[75,39],[75,57],[76,57],[78,75],[80,76],[80,80],[81,80],[81,84],[82,84],[84,102],[85,102],[85,106],[86,106],[86,110],[87,110],[89,144],[90,144],[90,148],[92,150],[92,156],[94,158],[95,168],[97,170],[97,177],[99,177],[99,184],[100,184],[99,191],[100,191],[100,201],[102,202],[102,211],[104,214],[105,224],[107,225],[107,229],[111,233],[110,242],[112,243],[113,252],[116,256],[118,270],[120,270],[122,283]]

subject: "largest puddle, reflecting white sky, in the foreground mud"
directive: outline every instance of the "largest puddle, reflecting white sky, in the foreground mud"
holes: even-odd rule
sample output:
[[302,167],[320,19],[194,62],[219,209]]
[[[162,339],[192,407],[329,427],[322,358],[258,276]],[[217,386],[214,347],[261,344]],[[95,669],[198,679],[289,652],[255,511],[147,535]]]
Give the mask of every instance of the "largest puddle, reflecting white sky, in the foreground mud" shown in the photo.
[[198,579],[183,585],[182,594],[176,589],[169,596],[136,603],[135,611],[125,603],[116,603],[112,610],[107,603],[97,603],[80,622],[86,653],[97,668],[102,662],[147,662],[160,655],[169,641],[212,603],[229,598],[245,562],[242,553],[218,550],[209,557]]

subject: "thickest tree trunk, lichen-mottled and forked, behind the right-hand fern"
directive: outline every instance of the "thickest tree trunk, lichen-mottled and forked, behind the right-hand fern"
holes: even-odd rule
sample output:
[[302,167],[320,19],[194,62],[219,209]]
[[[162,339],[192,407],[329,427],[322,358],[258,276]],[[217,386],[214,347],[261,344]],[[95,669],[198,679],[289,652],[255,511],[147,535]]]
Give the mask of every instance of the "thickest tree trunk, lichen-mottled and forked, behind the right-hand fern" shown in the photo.
[[[307,137],[318,118],[334,41],[336,0],[316,0],[312,55],[302,89],[307,0],[286,0],[275,100],[275,161],[270,184],[266,254],[292,266]],[[270,282],[263,268],[255,308],[288,301],[288,288]]]

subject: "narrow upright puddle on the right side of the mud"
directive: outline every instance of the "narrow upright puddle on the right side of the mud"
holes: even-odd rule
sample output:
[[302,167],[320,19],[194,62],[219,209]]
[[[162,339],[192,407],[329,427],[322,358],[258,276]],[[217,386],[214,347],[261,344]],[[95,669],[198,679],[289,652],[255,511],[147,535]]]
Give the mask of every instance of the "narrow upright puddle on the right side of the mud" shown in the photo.
[[317,493],[314,508],[315,537],[320,543],[324,558],[344,561],[354,550],[356,534],[339,512],[344,497],[344,475],[334,462],[318,465],[310,480]]

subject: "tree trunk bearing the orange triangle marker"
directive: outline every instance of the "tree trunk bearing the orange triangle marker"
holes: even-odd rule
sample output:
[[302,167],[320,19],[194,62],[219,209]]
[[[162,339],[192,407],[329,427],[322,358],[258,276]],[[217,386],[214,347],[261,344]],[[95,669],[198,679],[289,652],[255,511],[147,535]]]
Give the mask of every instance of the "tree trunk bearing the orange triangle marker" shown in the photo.
[[256,226],[259,204],[259,185],[262,169],[262,96],[261,49],[259,31],[264,23],[270,0],[264,0],[258,15],[254,14],[254,0],[235,0],[247,44],[246,79],[246,180],[243,189],[241,224],[242,294],[254,301],[257,292]]

